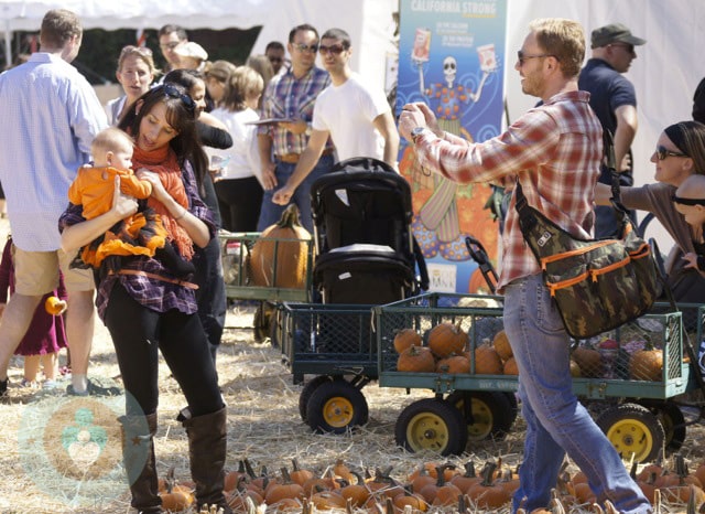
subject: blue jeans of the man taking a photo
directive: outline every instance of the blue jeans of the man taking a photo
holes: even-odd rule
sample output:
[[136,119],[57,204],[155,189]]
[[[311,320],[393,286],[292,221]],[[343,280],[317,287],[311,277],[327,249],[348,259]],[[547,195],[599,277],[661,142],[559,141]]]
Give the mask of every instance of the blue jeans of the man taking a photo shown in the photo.
[[563,458],[587,475],[597,500],[620,513],[650,513],[617,450],[572,390],[568,336],[541,275],[505,289],[505,330],[519,366],[519,397],[527,421],[521,484],[513,510],[549,504]]

